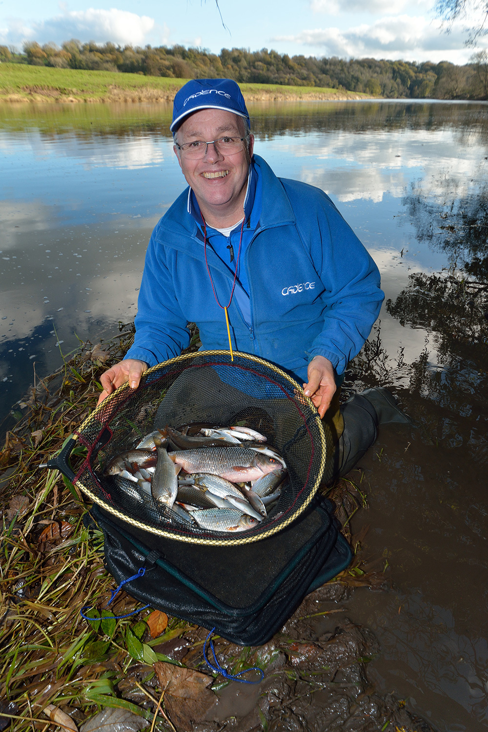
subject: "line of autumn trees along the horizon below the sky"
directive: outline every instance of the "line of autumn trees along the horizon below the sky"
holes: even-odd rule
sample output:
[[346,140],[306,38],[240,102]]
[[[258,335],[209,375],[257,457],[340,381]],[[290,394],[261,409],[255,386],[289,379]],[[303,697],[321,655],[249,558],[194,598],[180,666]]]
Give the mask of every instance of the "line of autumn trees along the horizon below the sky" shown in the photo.
[[91,41],[27,42],[23,53],[0,46],[0,61],[57,68],[129,72],[171,78],[232,78],[238,83],[287,84],[348,89],[389,99],[488,99],[488,51],[478,51],[463,66],[441,61],[416,63],[377,59],[318,59],[276,51],[150,45],[123,47]]

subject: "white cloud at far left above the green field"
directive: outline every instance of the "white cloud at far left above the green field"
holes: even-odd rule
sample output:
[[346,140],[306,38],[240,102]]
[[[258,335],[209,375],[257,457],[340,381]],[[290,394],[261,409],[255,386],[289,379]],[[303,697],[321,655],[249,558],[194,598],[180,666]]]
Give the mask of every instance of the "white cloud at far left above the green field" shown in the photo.
[[143,45],[155,28],[154,18],[136,15],[127,10],[72,10],[40,22],[26,23],[17,18],[7,18],[6,27],[0,30],[2,43],[22,45],[26,40],[39,43],[61,43],[70,38],[96,43],[112,41],[121,45]]

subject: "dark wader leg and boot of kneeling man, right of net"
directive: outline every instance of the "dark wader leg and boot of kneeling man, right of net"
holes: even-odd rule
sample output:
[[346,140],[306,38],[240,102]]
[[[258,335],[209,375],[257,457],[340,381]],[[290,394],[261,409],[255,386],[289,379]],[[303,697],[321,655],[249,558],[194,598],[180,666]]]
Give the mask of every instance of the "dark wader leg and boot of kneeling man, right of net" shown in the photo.
[[413,425],[397,406],[392,392],[383,387],[349,397],[340,413],[344,428],[333,456],[332,478],[346,475],[361,460],[378,436],[378,425]]

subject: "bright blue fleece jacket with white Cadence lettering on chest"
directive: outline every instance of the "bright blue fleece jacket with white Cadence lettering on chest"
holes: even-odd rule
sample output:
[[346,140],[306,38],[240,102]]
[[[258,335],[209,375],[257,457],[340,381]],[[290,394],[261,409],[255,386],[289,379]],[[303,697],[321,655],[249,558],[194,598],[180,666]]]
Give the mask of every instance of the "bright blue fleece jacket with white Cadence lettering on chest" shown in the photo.
[[[316,355],[329,359],[340,375],[378,317],[384,298],[378,268],[323,191],[277,178],[257,155],[253,164],[262,212],[243,257],[251,322],[239,307],[241,291],[228,311],[232,348],[272,361],[300,383],[307,381],[308,363]],[[134,346],[126,358],[150,366],[188,346],[188,322],[199,326],[205,350],[229,348],[202,232],[187,202],[188,189],[154,228],[146,253]],[[208,245],[207,262],[226,304],[233,267]]]

